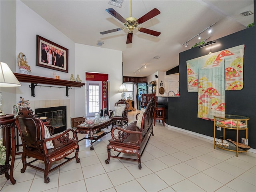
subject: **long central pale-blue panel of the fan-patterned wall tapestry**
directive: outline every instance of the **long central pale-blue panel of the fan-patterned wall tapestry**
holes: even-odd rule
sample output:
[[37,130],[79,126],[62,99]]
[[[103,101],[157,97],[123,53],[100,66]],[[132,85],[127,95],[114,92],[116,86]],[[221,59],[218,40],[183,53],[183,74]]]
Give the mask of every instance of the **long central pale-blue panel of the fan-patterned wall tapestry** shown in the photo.
[[211,57],[198,58],[198,118],[213,119],[214,115],[225,114],[224,62],[208,65]]

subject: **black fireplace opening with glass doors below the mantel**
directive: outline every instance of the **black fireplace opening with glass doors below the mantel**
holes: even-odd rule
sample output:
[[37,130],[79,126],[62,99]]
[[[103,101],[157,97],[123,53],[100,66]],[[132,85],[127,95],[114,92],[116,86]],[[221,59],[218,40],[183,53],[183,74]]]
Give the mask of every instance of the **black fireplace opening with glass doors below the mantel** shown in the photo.
[[50,125],[55,128],[54,134],[67,129],[67,106],[47,107],[35,109],[37,117],[47,117],[50,119]]

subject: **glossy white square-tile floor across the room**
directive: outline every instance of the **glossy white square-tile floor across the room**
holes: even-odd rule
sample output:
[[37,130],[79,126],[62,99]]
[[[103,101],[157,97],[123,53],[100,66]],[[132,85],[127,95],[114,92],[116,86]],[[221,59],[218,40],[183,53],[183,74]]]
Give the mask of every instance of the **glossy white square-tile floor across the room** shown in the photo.
[[[129,112],[129,122],[137,112]],[[79,134],[82,138],[84,135]],[[229,152],[213,148],[213,141],[187,132],[154,126],[142,155],[142,169],[138,163],[110,159],[106,145],[111,134],[93,144],[79,142],[81,162],[72,160],[49,174],[50,182],[44,183],[44,174],[27,167],[20,173],[22,162],[16,156],[12,185],[1,175],[1,192],[255,192],[256,154]],[[42,164],[43,166],[43,164]]]

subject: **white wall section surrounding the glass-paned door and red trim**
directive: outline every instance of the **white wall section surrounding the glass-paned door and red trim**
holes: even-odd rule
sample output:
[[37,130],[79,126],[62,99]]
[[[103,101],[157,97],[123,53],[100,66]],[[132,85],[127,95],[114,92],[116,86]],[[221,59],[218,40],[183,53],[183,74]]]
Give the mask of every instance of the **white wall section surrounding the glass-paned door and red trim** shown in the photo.
[[[108,74],[110,85],[109,109],[121,99],[118,88],[122,84],[122,51],[76,44],[76,71],[81,80],[85,80],[85,72]],[[76,116],[85,114],[85,89],[76,90]],[[79,102],[78,102],[79,101]]]

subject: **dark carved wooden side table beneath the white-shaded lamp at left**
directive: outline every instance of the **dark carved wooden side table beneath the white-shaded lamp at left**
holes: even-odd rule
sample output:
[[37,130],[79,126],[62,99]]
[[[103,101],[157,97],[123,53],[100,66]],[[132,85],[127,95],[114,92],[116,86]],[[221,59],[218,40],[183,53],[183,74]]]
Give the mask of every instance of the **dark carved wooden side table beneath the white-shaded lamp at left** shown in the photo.
[[15,160],[14,122],[15,122],[15,118],[13,114],[6,114],[5,116],[0,116],[0,129],[2,129],[3,131],[3,144],[6,146],[5,164],[9,164],[10,154],[12,155],[10,174],[8,173],[8,171],[6,171],[4,175],[6,179],[10,179],[13,185],[16,183],[16,180],[13,178],[13,168],[14,168],[14,160]]

